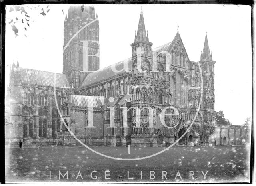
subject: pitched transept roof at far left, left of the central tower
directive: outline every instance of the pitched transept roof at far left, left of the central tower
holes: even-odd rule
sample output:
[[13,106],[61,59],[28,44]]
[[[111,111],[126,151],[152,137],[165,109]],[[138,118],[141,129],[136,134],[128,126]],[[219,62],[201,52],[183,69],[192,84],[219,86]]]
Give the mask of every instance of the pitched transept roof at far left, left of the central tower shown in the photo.
[[36,84],[41,86],[53,86],[54,76],[56,74],[56,87],[68,87],[68,79],[65,74],[46,72],[41,70],[26,69],[26,68],[16,68],[18,72],[18,77],[21,83],[26,84]]

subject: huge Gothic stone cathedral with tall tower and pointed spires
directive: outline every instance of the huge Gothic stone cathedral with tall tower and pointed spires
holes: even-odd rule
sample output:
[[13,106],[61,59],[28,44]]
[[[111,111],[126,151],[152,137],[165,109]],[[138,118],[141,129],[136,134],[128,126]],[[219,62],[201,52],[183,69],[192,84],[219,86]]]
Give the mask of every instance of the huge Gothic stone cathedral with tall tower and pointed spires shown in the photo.
[[6,144],[80,145],[73,135],[89,146],[249,140],[246,127],[215,123],[215,61],[207,33],[198,62],[190,61],[178,30],[172,41],[152,48],[141,10],[130,46],[129,59],[99,69],[95,9],[70,6],[63,73],[25,69],[18,61],[10,69]]

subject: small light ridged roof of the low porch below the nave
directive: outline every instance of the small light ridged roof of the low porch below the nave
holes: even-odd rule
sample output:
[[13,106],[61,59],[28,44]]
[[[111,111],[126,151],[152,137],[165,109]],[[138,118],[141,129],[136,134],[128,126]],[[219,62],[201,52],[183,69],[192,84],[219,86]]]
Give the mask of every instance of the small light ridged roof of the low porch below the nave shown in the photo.
[[70,95],[69,102],[73,103],[75,106],[99,108],[104,105],[106,98],[95,97],[95,96],[85,96],[85,95]]

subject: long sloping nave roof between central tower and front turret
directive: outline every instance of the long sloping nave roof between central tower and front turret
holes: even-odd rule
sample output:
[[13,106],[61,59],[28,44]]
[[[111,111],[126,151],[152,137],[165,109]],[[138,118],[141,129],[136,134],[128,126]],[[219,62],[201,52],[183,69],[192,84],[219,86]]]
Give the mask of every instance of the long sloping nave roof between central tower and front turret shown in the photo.
[[[132,69],[132,59],[126,59],[124,61],[120,61],[116,64],[110,65],[108,67],[105,67],[103,69],[99,69],[95,72],[89,73],[86,78],[84,79],[84,81],[82,82],[81,86],[86,86],[86,85],[90,85],[92,83],[95,83],[97,81],[101,81],[104,79],[108,79],[110,77],[119,75],[119,74],[123,74],[126,71],[124,70],[124,65],[128,64],[128,69],[129,71]],[[114,72],[113,69],[116,69],[117,71],[120,72]],[[121,71],[122,70],[122,71]]]

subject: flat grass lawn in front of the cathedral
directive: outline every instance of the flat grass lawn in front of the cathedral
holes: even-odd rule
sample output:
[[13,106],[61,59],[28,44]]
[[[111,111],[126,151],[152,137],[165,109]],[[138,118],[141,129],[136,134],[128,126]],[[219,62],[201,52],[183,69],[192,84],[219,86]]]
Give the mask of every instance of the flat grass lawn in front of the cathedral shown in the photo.
[[[93,149],[109,156],[136,158],[164,147],[131,147],[130,154],[128,147]],[[249,182],[249,150],[250,146],[175,146],[152,158],[120,161],[85,147],[5,148],[6,182]],[[62,175],[68,171],[68,180],[66,176],[59,180],[59,171]],[[95,180],[92,171],[97,171],[92,173]],[[207,172],[205,179],[202,172]]]

